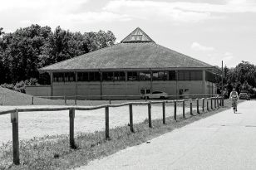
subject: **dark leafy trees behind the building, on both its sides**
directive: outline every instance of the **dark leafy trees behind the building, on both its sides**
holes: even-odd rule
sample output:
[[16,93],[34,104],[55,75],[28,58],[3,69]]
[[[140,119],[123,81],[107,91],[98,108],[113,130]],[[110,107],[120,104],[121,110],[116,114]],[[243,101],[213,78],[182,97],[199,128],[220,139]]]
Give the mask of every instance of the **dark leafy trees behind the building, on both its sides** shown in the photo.
[[[111,31],[70,32],[61,27],[32,25],[5,33],[0,27],[0,85],[9,89],[22,89],[24,84],[37,84],[38,70],[59,61],[115,44]],[[221,80],[217,80],[219,94]],[[234,68],[224,67],[224,93],[232,88],[248,90],[256,97],[256,66],[242,61]],[[21,91],[21,90],[20,90]]]

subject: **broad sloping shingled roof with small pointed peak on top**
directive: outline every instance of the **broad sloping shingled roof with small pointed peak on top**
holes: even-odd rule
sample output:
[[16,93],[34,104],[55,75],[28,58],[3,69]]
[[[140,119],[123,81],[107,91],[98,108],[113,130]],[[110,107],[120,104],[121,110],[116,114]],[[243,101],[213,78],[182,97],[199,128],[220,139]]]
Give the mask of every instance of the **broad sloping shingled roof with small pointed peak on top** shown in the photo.
[[[39,70],[95,70],[95,69],[162,69],[178,67],[213,67],[203,61],[185,56],[177,51],[160,46],[140,28],[135,35],[126,36],[121,43],[76,56],[66,61],[43,67]],[[131,38],[134,39],[131,39]],[[130,42],[130,43],[127,43]]]

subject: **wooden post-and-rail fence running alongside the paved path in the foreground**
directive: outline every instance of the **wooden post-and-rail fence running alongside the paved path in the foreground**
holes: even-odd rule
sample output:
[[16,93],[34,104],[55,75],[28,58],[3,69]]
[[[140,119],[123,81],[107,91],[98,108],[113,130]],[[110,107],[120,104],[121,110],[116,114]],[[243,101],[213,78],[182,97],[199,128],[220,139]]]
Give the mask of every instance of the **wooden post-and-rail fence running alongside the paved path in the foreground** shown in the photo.
[[[123,104],[105,104],[98,105],[93,107],[86,106],[62,106],[62,107],[52,107],[52,108],[27,108],[27,109],[9,109],[6,111],[0,111],[0,115],[2,114],[11,114],[11,123],[12,123],[12,148],[13,148],[13,163],[19,164],[19,138],[18,138],[18,113],[19,112],[34,112],[34,111],[59,111],[59,110],[69,110],[69,123],[70,123],[70,148],[76,148],[75,138],[74,138],[74,119],[76,110],[94,110],[94,109],[105,109],[105,132],[106,139],[110,138],[110,122],[109,122],[109,108],[121,107],[121,106],[129,106],[129,115],[130,115],[130,131],[135,132],[133,127],[133,109],[132,105],[148,105],[148,120],[149,120],[149,128],[152,128],[152,119],[151,119],[151,104],[162,104],[162,112],[163,112],[163,124],[165,122],[165,104],[174,103],[174,119],[177,120],[177,103],[182,103],[182,116],[185,119],[185,101],[190,102],[190,115],[193,114],[193,104],[192,101],[196,101],[196,113],[201,114],[199,111],[199,100],[202,100],[202,110],[204,112],[205,109],[205,101],[206,101],[206,109],[209,111],[210,109],[219,109],[220,103],[222,103],[222,97],[210,97],[196,100],[165,100],[165,101],[145,101],[145,102],[129,102]],[[210,108],[209,108],[210,105]],[[223,105],[223,104],[222,104]]]

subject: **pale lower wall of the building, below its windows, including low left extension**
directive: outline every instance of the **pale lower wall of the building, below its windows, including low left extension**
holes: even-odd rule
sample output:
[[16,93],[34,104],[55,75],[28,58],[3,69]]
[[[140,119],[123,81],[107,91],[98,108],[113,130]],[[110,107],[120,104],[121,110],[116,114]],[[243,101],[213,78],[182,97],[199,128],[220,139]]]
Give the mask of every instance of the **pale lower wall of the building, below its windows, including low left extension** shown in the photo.
[[[212,88],[213,86],[213,88]],[[103,82],[54,82],[54,96],[75,96],[81,95],[77,99],[106,99],[106,95],[140,95],[141,89],[151,89],[152,91],[165,91],[168,95],[176,95],[176,81],[103,81]],[[77,90],[77,91],[76,91]],[[212,91],[213,90],[213,91]],[[177,95],[212,95],[216,94],[216,85],[209,81],[201,80],[179,80],[177,85]],[[29,86],[27,94],[30,95],[51,95],[50,86]],[[102,97],[101,97],[102,95]],[[137,99],[138,97],[111,97],[111,99]],[[109,98],[107,98],[109,99]]]

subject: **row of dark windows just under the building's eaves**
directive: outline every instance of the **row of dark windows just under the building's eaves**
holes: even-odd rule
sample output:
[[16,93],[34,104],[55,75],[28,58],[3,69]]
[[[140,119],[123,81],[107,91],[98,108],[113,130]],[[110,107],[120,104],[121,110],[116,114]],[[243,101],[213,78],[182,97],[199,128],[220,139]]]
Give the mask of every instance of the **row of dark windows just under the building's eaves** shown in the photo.
[[[203,72],[201,70],[179,70],[176,75],[175,70],[170,71],[128,71],[127,80],[203,80]],[[53,81],[68,82],[75,81],[76,75],[74,72],[53,73]],[[78,72],[77,81],[100,81],[100,72]],[[102,72],[103,81],[124,81],[126,73],[124,71]]]

